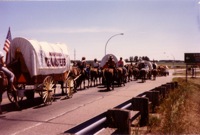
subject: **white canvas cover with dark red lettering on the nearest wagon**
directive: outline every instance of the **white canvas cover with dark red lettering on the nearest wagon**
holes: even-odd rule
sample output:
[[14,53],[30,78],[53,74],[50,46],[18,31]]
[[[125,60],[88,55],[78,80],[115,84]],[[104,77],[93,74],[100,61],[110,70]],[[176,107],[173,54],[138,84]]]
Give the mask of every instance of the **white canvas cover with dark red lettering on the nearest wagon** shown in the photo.
[[61,74],[70,69],[70,57],[66,44],[51,44],[14,38],[10,45],[7,63],[15,59],[16,50],[20,50],[30,76]]

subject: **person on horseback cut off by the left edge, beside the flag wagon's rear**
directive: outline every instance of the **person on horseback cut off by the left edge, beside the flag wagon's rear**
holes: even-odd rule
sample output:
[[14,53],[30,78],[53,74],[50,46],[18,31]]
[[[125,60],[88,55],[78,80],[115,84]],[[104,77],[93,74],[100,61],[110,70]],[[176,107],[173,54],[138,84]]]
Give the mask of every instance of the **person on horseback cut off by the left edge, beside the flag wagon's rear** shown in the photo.
[[15,86],[13,85],[15,75],[6,67],[6,63],[4,62],[3,53],[0,51],[0,70],[3,71],[8,77],[8,83],[10,90],[16,91]]

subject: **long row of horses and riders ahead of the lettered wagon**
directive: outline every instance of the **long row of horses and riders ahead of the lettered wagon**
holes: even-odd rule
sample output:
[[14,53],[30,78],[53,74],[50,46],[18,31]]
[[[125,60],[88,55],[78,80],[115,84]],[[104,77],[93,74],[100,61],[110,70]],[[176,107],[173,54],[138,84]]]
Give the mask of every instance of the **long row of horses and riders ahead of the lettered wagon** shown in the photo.
[[158,66],[154,67],[146,63],[126,64],[116,68],[94,68],[87,65],[85,69],[78,66],[71,68],[70,75],[74,78],[74,90],[104,85],[107,90],[113,90],[114,86],[125,86],[129,81],[139,80],[145,82],[147,79],[156,80],[159,75]]

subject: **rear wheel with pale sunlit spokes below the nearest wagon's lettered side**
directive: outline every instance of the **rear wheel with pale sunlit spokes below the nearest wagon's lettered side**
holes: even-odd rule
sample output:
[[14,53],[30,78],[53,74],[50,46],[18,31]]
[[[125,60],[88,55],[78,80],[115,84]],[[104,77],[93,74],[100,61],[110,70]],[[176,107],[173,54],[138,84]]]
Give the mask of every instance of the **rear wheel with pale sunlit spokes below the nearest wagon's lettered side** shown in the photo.
[[51,76],[47,76],[43,81],[43,90],[39,93],[45,105],[52,104],[54,81]]

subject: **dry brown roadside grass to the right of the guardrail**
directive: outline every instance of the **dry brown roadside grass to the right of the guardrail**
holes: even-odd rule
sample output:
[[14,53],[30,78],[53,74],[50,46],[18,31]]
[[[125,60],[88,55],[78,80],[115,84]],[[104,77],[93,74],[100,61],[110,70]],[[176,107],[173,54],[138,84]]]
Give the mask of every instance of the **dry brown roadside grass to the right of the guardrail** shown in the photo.
[[150,114],[147,134],[200,134],[200,79],[173,81],[179,87]]

